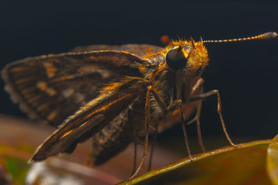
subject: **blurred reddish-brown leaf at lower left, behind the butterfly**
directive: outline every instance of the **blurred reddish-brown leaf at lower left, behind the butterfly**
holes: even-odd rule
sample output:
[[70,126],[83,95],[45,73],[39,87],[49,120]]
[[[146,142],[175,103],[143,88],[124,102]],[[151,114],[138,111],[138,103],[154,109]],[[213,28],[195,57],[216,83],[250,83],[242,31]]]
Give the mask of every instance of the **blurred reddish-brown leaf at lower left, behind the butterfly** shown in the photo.
[[[27,164],[35,148],[55,128],[0,114],[0,185],[11,184],[116,184],[127,179],[133,167],[133,145],[101,166],[86,166],[91,140],[81,143],[73,154]],[[138,152],[142,152],[139,148]],[[156,147],[154,168],[180,159],[174,152]],[[147,167],[142,171],[146,171]],[[47,181],[47,182],[46,182]],[[55,182],[55,183],[54,183]],[[43,184],[42,183],[42,184]]]

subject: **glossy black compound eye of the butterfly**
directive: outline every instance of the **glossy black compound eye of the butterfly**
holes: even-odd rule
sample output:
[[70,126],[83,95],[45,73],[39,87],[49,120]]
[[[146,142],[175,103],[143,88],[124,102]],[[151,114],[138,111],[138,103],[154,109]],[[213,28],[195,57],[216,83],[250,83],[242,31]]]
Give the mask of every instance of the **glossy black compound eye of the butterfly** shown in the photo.
[[181,51],[181,47],[168,51],[165,60],[167,65],[173,70],[179,70],[186,65],[186,58]]

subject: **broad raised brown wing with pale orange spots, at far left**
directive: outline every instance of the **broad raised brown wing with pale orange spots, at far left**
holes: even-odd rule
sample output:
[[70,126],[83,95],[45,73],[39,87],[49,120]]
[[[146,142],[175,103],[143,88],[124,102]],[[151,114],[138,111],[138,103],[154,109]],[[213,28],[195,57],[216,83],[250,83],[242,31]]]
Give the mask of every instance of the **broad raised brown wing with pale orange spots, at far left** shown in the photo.
[[90,51],[26,58],[2,71],[6,90],[31,118],[58,125],[99,95],[104,83],[141,77],[147,63],[124,51]]

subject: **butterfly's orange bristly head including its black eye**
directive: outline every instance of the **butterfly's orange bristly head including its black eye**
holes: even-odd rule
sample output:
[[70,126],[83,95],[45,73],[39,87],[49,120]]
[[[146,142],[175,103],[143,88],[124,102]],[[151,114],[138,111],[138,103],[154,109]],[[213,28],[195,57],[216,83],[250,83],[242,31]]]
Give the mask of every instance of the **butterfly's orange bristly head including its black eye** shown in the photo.
[[203,42],[179,40],[167,47],[167,66],[172,70],[186,69],[191,77],[196,77],[208,65],[208,51]]

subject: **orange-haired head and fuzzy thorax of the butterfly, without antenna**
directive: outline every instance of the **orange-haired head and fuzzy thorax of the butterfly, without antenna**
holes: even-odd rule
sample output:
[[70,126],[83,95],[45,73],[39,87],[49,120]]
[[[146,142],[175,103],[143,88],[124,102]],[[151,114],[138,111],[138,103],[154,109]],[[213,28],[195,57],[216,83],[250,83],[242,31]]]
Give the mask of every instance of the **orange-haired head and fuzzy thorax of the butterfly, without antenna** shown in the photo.
[[[174,106],[181,99],[186,104],[193,87],[191,79],[199,77],[208,65],[207,50],[202,42],[179,40],[173,41],[162,51],[143,56],[149,65],[141,66],[140,71],[149,85],[153,86],[167,107]],[[151,95],[151,112],[153,118],[161,118],[162,108]]]

